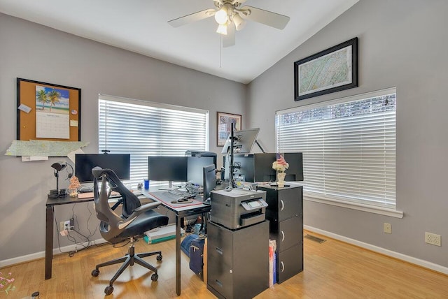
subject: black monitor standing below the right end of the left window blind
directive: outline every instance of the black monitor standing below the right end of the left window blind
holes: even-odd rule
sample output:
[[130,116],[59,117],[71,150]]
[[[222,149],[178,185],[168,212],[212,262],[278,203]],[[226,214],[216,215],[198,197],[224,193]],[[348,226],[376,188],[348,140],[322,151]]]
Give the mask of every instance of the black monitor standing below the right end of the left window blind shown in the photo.
[[186,156],[148,156],[148,180],[168,181],[168,188],[172,182],[187,182]]

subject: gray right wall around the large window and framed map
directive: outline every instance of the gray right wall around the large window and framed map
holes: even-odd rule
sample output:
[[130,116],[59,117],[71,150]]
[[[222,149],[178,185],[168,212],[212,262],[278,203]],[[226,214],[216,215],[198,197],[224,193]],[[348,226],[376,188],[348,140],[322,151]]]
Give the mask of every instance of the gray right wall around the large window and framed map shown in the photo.
[[[360,0],[249,85],[248,123],[274,151],[274,111],[397,87],[397,202],[402,219],[304,202],[304,224],[448,267],[448,1]],[[293,62],[358,36],[359,87],[294,101]],[[383,233],[383,223],[392,234]],[[442,247],[424,232],[442,235]]]

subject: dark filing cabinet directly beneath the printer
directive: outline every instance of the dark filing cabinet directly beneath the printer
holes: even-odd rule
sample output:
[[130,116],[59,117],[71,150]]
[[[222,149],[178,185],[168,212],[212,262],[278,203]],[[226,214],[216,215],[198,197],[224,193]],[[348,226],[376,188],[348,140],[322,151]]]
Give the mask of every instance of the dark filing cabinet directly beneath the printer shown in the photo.
[[269,288],[269,221],[230,230],[207,223],[207,289],[218,298],[253,298]]

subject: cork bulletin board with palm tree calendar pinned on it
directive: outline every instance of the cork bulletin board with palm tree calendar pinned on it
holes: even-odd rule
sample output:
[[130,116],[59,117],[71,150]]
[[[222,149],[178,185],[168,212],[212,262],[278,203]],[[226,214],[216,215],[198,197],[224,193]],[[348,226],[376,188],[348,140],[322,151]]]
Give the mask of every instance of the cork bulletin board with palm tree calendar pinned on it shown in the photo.
[[17,108],[17,140],[80,141],[80,88],[17,78]]

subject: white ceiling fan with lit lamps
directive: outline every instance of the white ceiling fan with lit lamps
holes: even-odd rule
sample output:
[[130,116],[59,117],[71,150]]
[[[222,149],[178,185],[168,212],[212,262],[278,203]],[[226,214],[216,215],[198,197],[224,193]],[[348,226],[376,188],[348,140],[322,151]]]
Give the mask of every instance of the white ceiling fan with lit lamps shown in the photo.
[[174,20],[168,21],[172,27],[180,27],[191,22],[207,19],[215,16],[218,23],[216,32],[223,35],[223,47],[235,45],[235,29],[237,31],[244,28],[246,20],[251,20],[265,24],[276,29],[285,28],[289,22],[289,17],[273,13],[272,11],[262,10],[252,6],[242,6],[246,0],[213,0],[216,8],[209,8],[184,15]]

